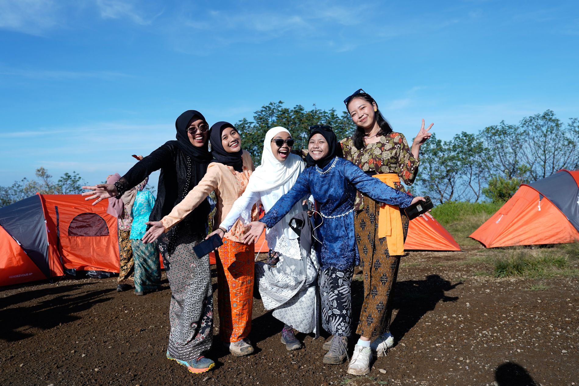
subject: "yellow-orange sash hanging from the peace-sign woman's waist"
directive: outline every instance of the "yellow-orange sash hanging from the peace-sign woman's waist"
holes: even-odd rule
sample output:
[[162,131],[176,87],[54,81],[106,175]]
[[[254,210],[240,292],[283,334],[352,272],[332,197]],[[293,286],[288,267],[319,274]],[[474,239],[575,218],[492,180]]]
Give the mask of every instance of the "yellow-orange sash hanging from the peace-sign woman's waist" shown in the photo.
[[[394,173],[375,174],[372,177],[378,178],[390,188],[394,188],[395,182],[400,183],[400,178]],[[390,255],[404,255],[402,216],[400,215],[400,208],[396,205],[380,205],[380,211],[378,212],[378,237],[386,237],[386,245]]]

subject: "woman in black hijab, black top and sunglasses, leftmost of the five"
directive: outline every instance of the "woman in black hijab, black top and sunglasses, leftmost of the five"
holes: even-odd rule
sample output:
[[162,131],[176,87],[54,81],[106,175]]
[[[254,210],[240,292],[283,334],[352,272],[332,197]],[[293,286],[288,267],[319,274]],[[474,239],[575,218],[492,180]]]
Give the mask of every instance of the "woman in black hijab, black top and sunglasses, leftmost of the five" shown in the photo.
[[[83,186],[90,192],[85,200],[122,196],[153,171],[161,170],[158,194],[149,221],[158,221],[193,189],[207,172],[209,126],[200,112],[188,110],[175,122],[177,140],[168,141],[135,164],[114,184]],[[171,333],[167,358],[202,373],[215,366],[203,356],[211,347],[213,334],[213,297],[208,256],[195,256],[193,247],[204,240],[210,206],[204,200],[179,225],[159,238],[159,251],[169,285]]]

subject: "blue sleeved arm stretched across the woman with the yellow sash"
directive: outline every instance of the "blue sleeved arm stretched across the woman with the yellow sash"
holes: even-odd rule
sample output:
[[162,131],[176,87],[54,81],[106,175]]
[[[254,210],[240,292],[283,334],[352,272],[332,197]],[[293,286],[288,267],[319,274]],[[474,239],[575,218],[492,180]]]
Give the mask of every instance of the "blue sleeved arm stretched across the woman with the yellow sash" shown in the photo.
[[399,192],[394,188],[386,185],[378,178],[370,177],[363,172],[359,167],[351,162],[346,163],[345,166],[346,178],[350,181],[356,189],[366,194],[372,200],[379,201],[390,205],[397,205],[401,208],[406,208],[411,205],[412,197],[410,194]]

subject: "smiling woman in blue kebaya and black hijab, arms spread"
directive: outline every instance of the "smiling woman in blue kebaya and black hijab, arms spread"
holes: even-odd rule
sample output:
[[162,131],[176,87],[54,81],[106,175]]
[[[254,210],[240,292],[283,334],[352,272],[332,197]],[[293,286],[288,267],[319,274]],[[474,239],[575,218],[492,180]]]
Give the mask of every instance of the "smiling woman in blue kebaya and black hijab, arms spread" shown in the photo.
[[[284,194],[259,221],[250,223],[244,238],[251,242],[264,227],[272,228],[303,196],[312,194],[321,218],[317,228],[322,326],[334,335],[324,363],[339,365],[346,357],[351,334],[351,278],[357,263],[354,234],[354,199],[356,190],[381,203],[406,208],[423,197],[398,192],[378,179],[369,177],[359,167],[336,156],[338,141],[329,126],[311,126],[308,141],[308,167],[299,175],[291,190]],[[373,226],[373,225],[369,225]],[[352,358],[354,360],[354,358]]]

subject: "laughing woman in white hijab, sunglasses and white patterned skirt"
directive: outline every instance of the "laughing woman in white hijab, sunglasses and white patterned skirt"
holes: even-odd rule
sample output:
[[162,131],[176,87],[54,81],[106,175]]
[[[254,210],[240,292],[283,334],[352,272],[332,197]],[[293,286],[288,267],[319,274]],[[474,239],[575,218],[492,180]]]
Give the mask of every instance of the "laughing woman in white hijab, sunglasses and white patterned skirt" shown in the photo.
[[[263,140],[261,165],[255,169],[245,192],[237,198],[215,234],[223,237],[240,217],[245,223],[250,222],[254,204],[261,201],[267,212],[281,196],[290,191],[306,167],[301,157],[290,152],[293,145],[294,139],[286,128],[273,127],[267,131]],[[277,266],[261,262],[255,264],[255,280],[263,307],[266,310],[273,309],[273,316],[284,322],[281,343],[285,344],[287,350],[302,347],[293,329],[302,333],[319,333],[316,326],[316,253],[311,247],[304,248],[290,227],[292,217],[304,210],[301,203],[294,205],[276,226],[267,230],[267,245],[280,258]]]

